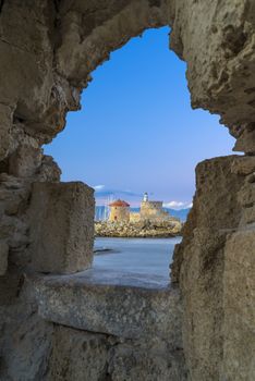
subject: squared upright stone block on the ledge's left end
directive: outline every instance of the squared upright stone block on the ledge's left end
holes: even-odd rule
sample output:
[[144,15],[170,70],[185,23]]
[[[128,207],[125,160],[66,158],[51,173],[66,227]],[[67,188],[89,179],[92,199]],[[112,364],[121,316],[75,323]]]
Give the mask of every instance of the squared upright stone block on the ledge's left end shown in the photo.
[[29,209],[32,267],[69,273],[90,267],[93,189],[83,183],[35,183]]

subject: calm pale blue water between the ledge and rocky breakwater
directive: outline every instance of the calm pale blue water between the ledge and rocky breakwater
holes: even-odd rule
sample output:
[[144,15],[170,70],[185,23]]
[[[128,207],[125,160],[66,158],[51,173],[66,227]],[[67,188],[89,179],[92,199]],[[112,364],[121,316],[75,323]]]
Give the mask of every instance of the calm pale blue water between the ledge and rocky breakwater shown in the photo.
[[94,249],[111,249],[95,255],[95,269],[169,276],[174,238],[96,238]]

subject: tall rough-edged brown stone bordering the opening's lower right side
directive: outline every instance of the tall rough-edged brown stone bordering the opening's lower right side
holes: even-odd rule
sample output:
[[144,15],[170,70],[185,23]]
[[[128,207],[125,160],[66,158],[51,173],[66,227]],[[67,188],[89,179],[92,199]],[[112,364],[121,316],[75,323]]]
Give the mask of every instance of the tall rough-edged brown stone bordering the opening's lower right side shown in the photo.
[[239,158],[217,158],[198,164],[193,210],[183,242],[174,253],[173,281],[179,276],[184,303],[184,349],[192,380],[224,377],[224,245],[228,234],[239,228],[242,206],[238,193],[244,184],[243,175],[231,172],[233,160]]

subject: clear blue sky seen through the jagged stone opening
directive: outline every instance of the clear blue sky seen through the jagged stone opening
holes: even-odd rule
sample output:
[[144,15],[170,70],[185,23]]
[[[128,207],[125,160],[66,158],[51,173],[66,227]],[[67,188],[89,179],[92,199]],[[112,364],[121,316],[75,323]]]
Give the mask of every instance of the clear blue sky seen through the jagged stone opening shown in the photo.
[[[48,146],[62,181],[137,205],[144,192],[169,206],[192,201],[195,165],[231,153],[234,139],[217,115],[192,110],[186,65],[169,50],[169,29],[150,29],[111,54]],[[171,202],[171,204],[170,204]]]

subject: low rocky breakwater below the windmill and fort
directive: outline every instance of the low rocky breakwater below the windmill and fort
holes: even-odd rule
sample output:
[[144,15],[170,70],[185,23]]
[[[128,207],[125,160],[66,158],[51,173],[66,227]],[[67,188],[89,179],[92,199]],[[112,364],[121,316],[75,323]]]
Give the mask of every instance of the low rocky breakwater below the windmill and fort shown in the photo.
[[95,222],[95,235],[99,237],[173,237],[180,235],[179,220],[151,222]]

